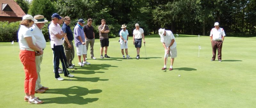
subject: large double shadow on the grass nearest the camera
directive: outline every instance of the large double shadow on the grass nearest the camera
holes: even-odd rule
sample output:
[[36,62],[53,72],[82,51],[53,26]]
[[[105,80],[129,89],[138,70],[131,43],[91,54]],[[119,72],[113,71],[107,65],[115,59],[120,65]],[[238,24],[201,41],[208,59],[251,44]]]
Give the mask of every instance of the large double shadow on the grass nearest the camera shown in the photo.
[[96,94],[100,93],[102,90],[94,89],[88,90],[84,87],[73,86],[65,89],[49,89],[45,92],[45,94],[63,94],[66,97],[56,97],[56,98],[43,98],[41,100],[44,101],[44,104],[78,104],[84,105],[88,103],[92,103],[94,101],[99,100],[99,98],[83,98],[87,94]]

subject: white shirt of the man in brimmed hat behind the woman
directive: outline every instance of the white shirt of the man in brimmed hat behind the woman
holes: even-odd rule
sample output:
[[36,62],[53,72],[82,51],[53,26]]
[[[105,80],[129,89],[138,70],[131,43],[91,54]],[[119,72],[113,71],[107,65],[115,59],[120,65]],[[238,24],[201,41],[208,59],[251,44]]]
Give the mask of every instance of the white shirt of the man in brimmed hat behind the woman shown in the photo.
[[36,37],[36,44],[38,44],[40,48],[44,49],[46,47],[46,41],[44,39],[42,30],[39,29],[36,24],[34,24],[31,28],[33,29],[31,33],[34,35],[34,37]]

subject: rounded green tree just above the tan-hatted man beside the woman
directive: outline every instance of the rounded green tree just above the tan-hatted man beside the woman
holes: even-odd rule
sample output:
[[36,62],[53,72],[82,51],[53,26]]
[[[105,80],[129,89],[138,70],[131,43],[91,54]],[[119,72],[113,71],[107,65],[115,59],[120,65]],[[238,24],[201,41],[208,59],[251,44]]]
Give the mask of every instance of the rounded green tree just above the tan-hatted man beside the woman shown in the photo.
[[55,12],[56,9],[51,0],[33,0],[28,10],[28,14],[43,15],[49,21],[52,20],[51,16]]

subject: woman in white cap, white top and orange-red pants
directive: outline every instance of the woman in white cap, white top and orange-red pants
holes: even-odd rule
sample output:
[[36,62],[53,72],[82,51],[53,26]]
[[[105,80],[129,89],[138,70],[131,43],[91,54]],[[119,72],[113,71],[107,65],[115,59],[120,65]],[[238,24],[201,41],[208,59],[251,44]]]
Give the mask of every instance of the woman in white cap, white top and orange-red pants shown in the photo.
[[32,35],[29,28],[32,27],[35,20],[31,15],[25,15],[20,22],[20,30],[18,33],[20,45],[20,61],[24,65],[25,71],[25,84],[24,90],[26,96],[25,101],[29,104],[42,104],[43,101],[35,97],[35,86],[37,79],[36,72],[36,56],[35,53],[43,54],[43,49],[36,47],[36,38]]

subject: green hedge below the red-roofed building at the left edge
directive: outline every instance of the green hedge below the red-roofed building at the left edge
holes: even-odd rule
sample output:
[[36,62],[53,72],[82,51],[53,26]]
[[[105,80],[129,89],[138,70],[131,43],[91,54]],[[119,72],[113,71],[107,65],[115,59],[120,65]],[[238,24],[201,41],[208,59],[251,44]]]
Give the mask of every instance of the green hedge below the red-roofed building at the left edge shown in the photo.
[[12,42],[18,40],[20,21],[9,23],[0,21],[0,42]]

